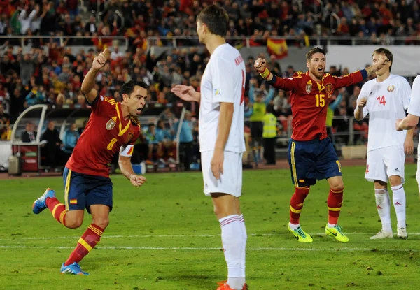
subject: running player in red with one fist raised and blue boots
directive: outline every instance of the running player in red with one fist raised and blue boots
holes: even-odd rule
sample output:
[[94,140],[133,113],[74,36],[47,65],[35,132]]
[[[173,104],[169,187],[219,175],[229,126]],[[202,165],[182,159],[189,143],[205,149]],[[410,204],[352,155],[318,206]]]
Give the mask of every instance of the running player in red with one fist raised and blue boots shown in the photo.
[[108,164],[113,155],[119,150],[120,169],[135,187],[146,182],[143,176],[134,173],[130,159],[134,142],[140,135],[137,116],[146,104],[147,85],[134,80],[125,82],[120,90],[121,102],[100,96],[94,89],[94,80],[109,55],[106,49],[94,58],[82,83],[81,89],[92,113],[64,169],[65,204],[58,201],[55,191],[47,189],[33,205],[35,214],[48,208],[52,216],[69,229],[81,226],[85,208],[92,215],[92,224],[62,264],[62,273],[88,275],[78,263],[97,245],[109,224],[113,193]]

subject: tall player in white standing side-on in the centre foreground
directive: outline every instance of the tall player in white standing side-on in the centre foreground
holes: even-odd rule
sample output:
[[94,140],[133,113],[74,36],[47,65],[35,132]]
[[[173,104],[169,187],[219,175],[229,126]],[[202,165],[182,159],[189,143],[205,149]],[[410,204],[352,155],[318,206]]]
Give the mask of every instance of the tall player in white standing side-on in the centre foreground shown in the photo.
[[244,141],[245,65],[239,51],[225,41],[229,17],[216,5],[197,16],[197,34],[211,57],[201,93],[176,85],[172,92],[185,101],[200,102],[199,136],[204,194],[211,196],[221,224],[228,281],[218,290],[246,289],[246,228],[239,209]]

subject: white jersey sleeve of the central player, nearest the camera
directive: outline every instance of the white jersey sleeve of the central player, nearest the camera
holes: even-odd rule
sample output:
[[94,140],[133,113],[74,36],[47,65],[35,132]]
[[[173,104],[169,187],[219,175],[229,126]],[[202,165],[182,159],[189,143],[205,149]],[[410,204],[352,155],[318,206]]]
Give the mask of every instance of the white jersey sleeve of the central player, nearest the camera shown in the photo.
[[212,103],[234,103],[234,67],[223,57],[216,57],[211,64],[211,82],[213,82]]

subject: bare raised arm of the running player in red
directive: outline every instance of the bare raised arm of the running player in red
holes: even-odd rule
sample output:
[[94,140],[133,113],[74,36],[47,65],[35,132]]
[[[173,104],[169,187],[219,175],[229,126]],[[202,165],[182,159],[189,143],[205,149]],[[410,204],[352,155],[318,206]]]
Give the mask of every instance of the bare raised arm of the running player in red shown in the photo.
[[90,68],[83,79],[81,90],[85,95],[87,102],[90,104],[92,104],[94,99],[98,96],[97,90],[94,89],[94,80],[97,73],[104,67],[109,57],[111,57],[111,52],[109,52],[108,48],[105,48],[103,52],[93,59],[92,68]]

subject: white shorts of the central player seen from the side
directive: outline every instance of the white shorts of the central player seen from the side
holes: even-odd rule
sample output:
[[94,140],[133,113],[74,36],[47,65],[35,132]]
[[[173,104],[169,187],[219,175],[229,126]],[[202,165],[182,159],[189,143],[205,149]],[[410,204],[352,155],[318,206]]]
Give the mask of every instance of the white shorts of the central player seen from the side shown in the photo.
[[239,197],[242,193],[242,153],[225,151],[223,174],[216,180],[211,172],[213,151],[201,152],[204,194],[230,194]]

